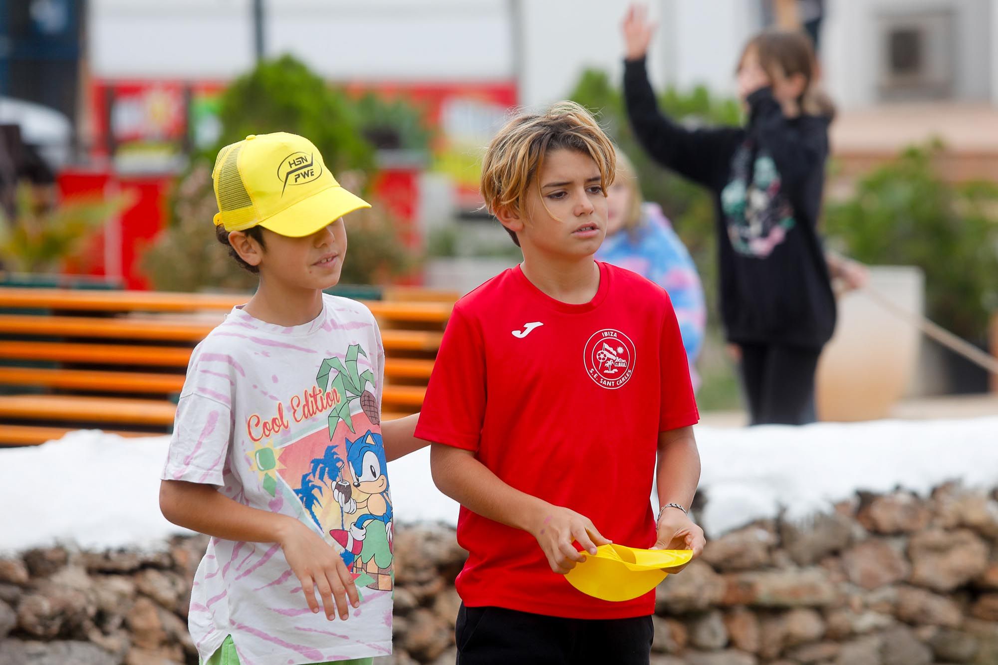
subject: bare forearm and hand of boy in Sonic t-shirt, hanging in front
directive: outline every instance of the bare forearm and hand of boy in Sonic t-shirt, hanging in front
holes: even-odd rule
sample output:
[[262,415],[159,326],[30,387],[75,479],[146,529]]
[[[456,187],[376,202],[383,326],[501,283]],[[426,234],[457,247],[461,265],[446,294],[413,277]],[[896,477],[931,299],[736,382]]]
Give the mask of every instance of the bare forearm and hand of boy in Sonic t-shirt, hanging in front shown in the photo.
[[347,596],[353,607],[359,605],[356,585],[339,554],[293,517],[251,508],[215,485],[184,480],[160,482],[160,510],[174,524],[216,538],[279,544],[312,612],[318,612],[316,586],[330,620],[337,609],[341,619],[347,618]]

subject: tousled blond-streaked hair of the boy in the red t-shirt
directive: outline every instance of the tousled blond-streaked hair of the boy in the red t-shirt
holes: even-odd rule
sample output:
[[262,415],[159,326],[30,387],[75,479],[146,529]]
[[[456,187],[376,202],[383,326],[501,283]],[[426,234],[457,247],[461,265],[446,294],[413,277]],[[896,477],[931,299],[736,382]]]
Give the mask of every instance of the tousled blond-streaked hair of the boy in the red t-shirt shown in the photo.
[[[606,195],[617,170],[613,143],[584,107],[558,102],[543,113],[511,119],[492,139],[482,161],[485,209],[492,215],[502,209],[522,214],[531,183],[540,191],[537,175],[552,150],[574,150],[591,157],[600,170],[600,187]],[[519,247],[516,234],[506,231]]]

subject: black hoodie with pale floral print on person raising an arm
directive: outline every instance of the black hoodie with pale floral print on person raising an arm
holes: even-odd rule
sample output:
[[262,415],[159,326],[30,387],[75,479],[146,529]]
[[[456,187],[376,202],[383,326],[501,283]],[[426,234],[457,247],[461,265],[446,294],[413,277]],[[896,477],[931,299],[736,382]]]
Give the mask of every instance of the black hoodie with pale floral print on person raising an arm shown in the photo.
[[830,119],[786,118],[763,88],[746,127],[687,129],[659,110],[644,59],[625,62],[624,96],[645,150],[714,194],[728,339],[823,345],[835,328],[817,235]]

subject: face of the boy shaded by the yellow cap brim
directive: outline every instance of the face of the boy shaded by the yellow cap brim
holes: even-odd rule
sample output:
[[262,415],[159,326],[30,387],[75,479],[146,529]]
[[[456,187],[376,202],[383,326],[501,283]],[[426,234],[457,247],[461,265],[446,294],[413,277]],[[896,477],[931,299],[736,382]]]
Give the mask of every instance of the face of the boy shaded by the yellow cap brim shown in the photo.
[[263,230],[265,251],[260,256],[263,279],[288,289],[328,289],[339,282],[346,256],[346,229],[342,218],[303,238],[288,238]]

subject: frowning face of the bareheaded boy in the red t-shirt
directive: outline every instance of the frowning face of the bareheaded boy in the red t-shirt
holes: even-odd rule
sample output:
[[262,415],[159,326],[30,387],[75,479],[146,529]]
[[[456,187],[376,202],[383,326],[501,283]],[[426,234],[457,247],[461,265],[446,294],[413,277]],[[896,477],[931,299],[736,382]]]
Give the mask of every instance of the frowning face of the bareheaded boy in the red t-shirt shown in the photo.
[[507,224],[524,251],[566,258],[596,254],[607,233],[607,198],[593,158],[574,150],[551,151],[537,182],[539,190],[530,185],[525,215]]

